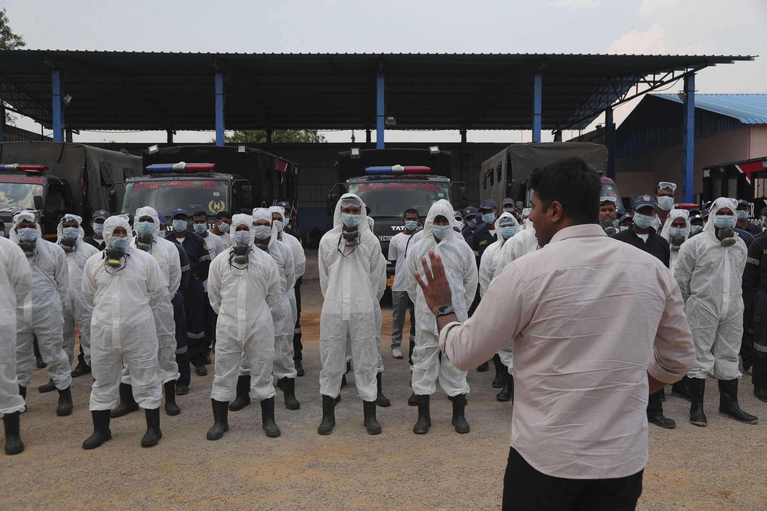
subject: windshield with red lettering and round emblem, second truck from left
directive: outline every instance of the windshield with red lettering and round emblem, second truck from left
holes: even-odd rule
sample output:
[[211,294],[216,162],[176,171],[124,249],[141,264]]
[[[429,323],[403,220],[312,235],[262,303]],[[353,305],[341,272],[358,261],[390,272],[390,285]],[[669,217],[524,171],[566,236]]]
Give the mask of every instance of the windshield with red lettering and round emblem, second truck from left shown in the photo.
[[207,180],[137,181],[125,184],[122,211],[135,213],[151,206],[168,217],[174,209],[185,209],[191,218],[195,211],[216,215],[227,210],[229,182]]

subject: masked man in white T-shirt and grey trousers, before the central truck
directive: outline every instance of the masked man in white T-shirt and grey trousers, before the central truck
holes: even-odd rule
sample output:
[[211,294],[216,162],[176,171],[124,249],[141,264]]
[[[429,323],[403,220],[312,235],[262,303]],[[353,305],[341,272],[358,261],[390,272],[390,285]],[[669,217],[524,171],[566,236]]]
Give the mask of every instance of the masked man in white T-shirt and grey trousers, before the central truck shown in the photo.
[[[418,228],[418,211],[405,210],[402,218],[405,230],[395,234],[389,242],[389,260],[394,261],[394,282],[391,286],[391,355],[395,359],[402,358],[402,329],[405,326],[405,316],[410,309],[410,297],[407,296],[407,280],[405,278],[405,249],[410,235]],[[413,321],[411,316],[410,321]]]

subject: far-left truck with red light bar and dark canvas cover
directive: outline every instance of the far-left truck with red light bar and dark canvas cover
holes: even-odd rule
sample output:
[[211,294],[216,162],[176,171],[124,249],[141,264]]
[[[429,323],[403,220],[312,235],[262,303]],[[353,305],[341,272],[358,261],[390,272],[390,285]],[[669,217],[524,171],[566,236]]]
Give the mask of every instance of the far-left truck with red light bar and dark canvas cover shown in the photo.
[[[43,236],[55,241],[59,218],[83,218],[91,234],[94,211],[108,210],[115,182],[141,174],[141,159],[73,142],[0,143],[0,218],[8,224],[13,208],[38,215]],[[121,198],[121,197],[120,197]]]

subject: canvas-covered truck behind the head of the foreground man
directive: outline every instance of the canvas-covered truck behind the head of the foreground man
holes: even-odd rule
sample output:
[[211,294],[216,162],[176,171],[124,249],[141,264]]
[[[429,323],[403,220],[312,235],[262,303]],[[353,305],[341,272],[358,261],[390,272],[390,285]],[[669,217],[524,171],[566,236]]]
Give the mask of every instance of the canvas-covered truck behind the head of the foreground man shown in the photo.
[[[482,162],[479,168],[480,202],[492,199],[500,205],[510,197],[518,208],[530,205],[532,189],[528,179],[534,169],[558,159],[578,156],[600,173],[602,197],[617,198],[623,204],[615,182],[604,174],[607,172],[607,147],[591,142],[533,142],[518,143],[503,149],[492,158]],[[624,204],[624,208],[627,205]]]

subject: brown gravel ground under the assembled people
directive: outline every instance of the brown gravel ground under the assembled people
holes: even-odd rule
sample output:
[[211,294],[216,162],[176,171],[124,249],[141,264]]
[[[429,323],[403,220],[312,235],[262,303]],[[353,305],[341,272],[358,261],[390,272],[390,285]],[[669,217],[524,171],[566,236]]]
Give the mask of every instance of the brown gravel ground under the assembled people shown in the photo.
[[[417,412],[407,406],[410,372],[407,359],[390,357],[386,303],[384,393],[392,406],[378,408],[383,434],[365,432],[351,373],[336,407],[334,433],[317,434],[318,287],[318,280],[304,280],[307,375],[296,384],[301,409],[286,410],[277,392],[281,437],[265,437],[260,409],[252,403],[230,412],[229,432],[221,440],[206,440],[212,425],[211,366],[208,376],[193,375],[189,394],[179,396],[179,416],[161,415],[159,445],[139,446],[145,422],[137,412],[112,420],[111,441],[83,450],[92,431],[91,378],[73,380],[74,412],[60,418],[56,393],[36,391],[48,377],[35,369],[29,409],[21,416],[26,450],[0,456],[0,509],[499,509],[512,406],[495,401],[492,370],[472,371],[466,407],[471,433],[453,431],[452,405],[438,388],[433,427],[429,434],[414,435]],[[650,425],[650,461],[638,509],[767,509],[767,405],[751,395],[747,380],[742,380],[742,408],[763,415],[762,424],[720,417],[716,382],[709,378],[709,427],[695,427],[686,420],[688,402],[667,388],[664,409],[679,425],[674,430]]]

